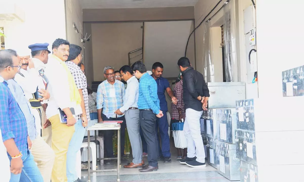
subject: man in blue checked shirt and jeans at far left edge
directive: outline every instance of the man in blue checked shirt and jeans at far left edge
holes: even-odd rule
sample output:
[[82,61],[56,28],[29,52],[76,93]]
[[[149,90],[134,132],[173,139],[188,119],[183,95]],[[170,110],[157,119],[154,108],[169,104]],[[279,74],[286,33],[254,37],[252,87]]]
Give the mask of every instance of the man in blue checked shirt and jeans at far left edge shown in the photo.
[[11,163],[10,182],[43,181],[28,149],[31,146],[25,116],[6,82],[13,79],[20,68],[16,51],[0,50],[0,129]]

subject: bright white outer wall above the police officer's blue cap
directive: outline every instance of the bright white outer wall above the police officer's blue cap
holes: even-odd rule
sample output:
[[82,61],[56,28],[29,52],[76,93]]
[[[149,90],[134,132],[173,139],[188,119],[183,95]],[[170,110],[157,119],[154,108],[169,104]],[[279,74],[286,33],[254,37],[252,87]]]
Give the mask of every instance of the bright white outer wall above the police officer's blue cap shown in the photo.
[[16,0],[25,12],[25,22],[0,21],[5,29],[5,49],[26,49],[33,43],[51,45],[57,38],[66,39],[64,0]]

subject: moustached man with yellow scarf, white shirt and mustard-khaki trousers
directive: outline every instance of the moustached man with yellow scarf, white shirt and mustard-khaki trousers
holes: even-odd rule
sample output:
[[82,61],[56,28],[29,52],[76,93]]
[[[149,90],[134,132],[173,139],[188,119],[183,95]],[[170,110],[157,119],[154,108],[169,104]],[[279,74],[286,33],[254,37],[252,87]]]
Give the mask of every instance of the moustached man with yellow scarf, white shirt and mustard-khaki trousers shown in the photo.
[[[52,171],[52,182],[67,182],[67,150],[74,134],[76,119],[81,114],[81,98],[74,78],[64,63],[69,56],[70,43],[56,39],[52,45],[53,55],[49,56],[45,74],[49,79],[50,99],[46,109],[47,122],[44,127],[52,126],[52,148],[55,162]],[[71,112],[73,108],[75,113]],[[67,124],[60,122],[61,109],[67,116]]]

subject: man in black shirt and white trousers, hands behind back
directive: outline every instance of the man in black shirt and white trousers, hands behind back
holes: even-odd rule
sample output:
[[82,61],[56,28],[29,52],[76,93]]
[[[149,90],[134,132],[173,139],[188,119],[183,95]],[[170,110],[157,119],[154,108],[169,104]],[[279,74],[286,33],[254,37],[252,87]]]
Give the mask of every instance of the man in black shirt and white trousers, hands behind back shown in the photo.
[[181,160],[180,163],[190,167],[206,167],[199,119],[202,116],[202,110],[207,110],[209,89],[204,76],[191,67],[188,58],[182,57],[177,64],[183,76],[183,97],[186,110],[184,132],[188,144],[187,158]]

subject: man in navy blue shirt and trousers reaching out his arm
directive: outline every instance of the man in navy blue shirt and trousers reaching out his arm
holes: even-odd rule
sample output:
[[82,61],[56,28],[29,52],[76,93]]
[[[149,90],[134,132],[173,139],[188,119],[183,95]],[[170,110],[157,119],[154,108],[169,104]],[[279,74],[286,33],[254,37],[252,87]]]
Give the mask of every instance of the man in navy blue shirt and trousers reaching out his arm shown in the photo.
[[164,163],[171,163],[171,153],[170,153],[170,138],[168,135],[169,124],[167,119],[167,101],[165,96],[165,91],[172,99],[174,104],[177,103],[177,99],[174,96],[173,91],[170,88],[170,83],[167,79],[163,78],[164,66],[160,62],[155,62],[152,66],[152,76],[157,83],[157,96],[160,101],[161,110],[164,112],[164,117],[157,118],[155,132],[161,135],[161,145],[159,141],[159,136],[157,136],[158,142],[158,160],[164,160]]

